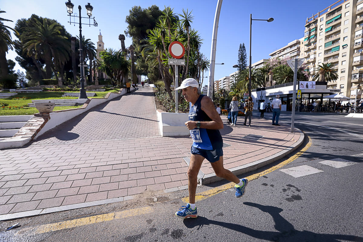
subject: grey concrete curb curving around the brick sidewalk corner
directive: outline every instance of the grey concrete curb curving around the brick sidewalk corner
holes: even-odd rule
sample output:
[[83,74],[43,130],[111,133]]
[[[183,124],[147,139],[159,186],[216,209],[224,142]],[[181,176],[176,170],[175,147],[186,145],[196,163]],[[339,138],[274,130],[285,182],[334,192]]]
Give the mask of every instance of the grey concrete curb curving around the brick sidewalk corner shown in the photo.
[[[290,146],[289,148],[285,148],[284,150],[282,150],[282,151],[280,151],[280,152],[278,152],[278,153],[276,153],[276,154],[274,154],[272,156],[269,156],[269,157],[266,157],[264,159],[260,159],[260,160],[257,160],[257,161],[253,161],[251,163],[241,165],[239,167],[234,167],[234,168],[231,168],[229,170],[231,172],[233,172],[234,175],[238,176],[238,175],[241,175],[243,173],[254,171],[254,170],[256,170],[256,169],[258,169],[260,167],[263,167],[263,166],[265,166],[267,164],[270,164],[270,163],[272,163],[274,161],[277,161],[277,160],[281,159],[282,157],[288,155],[289,153],[293,152],[295,149],[300,147],[300,145],[303,143],[304,137],[305,137],[301,130],[298,130],[297,128],[295,128],[295,129],[300,134],[300,137],[293,146]],[[187,162],[187,164],[189,164],[188,161],[186,161],[186,162]],[[215,173],[211,173],[211,174],[207,174],[207,175],[204,175],[203,172],[198,173],[198,183],[201,184],[201,185],[209,184],[209,183],[212,183],[212,182],[215,182],[215,181],[220,181],[220,180],[223,180],[223,178],[217,177],[215,175]]]

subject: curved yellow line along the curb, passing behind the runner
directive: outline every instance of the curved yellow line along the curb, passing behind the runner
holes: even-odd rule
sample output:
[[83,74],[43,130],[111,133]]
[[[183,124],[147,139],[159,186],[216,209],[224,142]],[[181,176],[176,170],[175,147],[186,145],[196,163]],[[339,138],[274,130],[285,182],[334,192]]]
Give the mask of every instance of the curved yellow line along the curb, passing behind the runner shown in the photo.
[[[270,172],[273,172],[277,169],[280,169],[281,167],[291,163],[292,161],[296,160],[299,156],[301,156],[305,151],[307,151],[307,149],[310,148],[311,146],[311,140],[310,140],[310,137],[308,136],[309,138],[309,142],[305,145],[304,148],[301,149],[301,151],[297,152],[295,155],[291,156],[289,159],[285,160],[285,161],[282,161],[280,164],[277,164],[265,171],[262,171],[262,172],[259,172],[259,173],[256,173],[256,174],[253,174],[253,175],[250,175],[248,177],[246,177],[249,181],[252,181],[252,180],[255,180],[255,179],[258,179],[260,178],[260,176],[264,176]],[[217,186],[215,188],[212,188],[212,189],[209,189],[209,190],[206,190],[204,192],[200,192],[200,193],[197,193],[195,195],[195,201],[198,202],[198,201],[201,201],[201,200],[204,200],[204,199],[207,199],[208,197],[212,197],[218,193],[221,193],[221,192],[224,192],[225,190],[228,190],[230,188],[233,188],[234,187],[234,182],[229,182],[227,184],[224,184],[224,185],[221,185],[221,186]],[[187,203],[189,202],[189,197],[183,197],[181,198],[181,201]]]

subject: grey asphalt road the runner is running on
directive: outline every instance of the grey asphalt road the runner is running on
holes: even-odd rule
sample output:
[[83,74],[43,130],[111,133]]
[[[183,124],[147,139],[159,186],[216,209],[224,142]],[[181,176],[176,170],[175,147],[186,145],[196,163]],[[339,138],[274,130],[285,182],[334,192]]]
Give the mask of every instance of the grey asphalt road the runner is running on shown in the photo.
[[[265,113],[265,118],[271,116]],[[282,112],[280,120],[289,124],[291,117]],[[363,120],[304,113],[297,114],[295,121],[312,143],[302,155],[250,181],[241,198],[234,197],[233,189],[227,189],[197,202],[197,218],[182,220],[174,215],[184,205],[180,198],[187,196],[186,190],[144,194],[137,200],[0,222],[1,231],[16,222],[22,225],[0,232],[0,241],[363,241]],[[307,143],[306,139],[302,147]],[[341,168],[319,163],[337,158],[355,163]],[[296,171],[302,165],[319,172],[295,178],[281,171]],[[201,186],[197,192],[223,184]],[[129,210],[134,208],[145,209]],[[106,216],[99,222],[70,229],[48,233],[36,230],[36,226],[47,223],[117,211],[126,212],[110,221]]]

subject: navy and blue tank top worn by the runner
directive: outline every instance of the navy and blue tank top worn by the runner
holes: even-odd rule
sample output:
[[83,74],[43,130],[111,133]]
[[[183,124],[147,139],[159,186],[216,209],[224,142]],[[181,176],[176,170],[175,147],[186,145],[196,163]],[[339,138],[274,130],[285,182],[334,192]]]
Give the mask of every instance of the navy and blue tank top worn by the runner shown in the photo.
[[[189,103],[189,120],[192,121],[212,121],[211,118],[201,109],[201,100],[204,95],[200,95],[192,106]],[[200,149],[220,149],[223,146],[223,140],[219,130],[210,130],[206,128],[195,128],[190,130],[193,139],[193,146]]]

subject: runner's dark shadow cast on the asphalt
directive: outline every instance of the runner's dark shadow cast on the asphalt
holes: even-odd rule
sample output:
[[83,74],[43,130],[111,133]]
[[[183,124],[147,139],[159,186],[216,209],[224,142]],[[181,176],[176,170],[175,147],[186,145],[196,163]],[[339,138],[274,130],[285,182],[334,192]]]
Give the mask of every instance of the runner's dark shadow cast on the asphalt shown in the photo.
[[[251,237],[257,239],[264,239],[266,241],[309,241],[309,242],[321,242],[321,241],[331,241],[339,242],[340,240],[347,241],[363,241],[362,237],[354,235],[342,235],[342,234],[318,234],[311,231],[299,231],[294,228],[294,226],[287,221],[284,217],[280,215],[283,211],[281,208],[275,206],[265,206],[261,204],[256,204],[253,202],[244,202],[245,205],[252,206],[260,209],[262,212],[269,213],[274,222],[275,229],[278,231],[262,231],[255,230],[243,225],[238,225],[235,223],[221,222],[215,220],[209,220],[208,218],[198,216],[197,218],[189,218],[183,220],[184,225],[192,229],[197,227],[197,230],[201,229],[204,225],[218,225],[225,227],[227,229],[232,229],[240,233],[244,233]],[[258,216],[256,216],[258,217]]]

